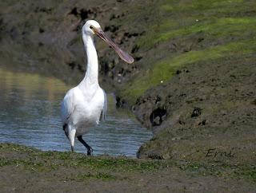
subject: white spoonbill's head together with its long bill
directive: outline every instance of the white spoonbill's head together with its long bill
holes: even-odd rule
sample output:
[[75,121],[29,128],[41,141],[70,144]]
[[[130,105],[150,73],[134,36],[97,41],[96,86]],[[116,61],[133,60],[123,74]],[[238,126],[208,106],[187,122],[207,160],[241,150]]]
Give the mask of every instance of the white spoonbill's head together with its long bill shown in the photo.
[[109,44],[121,57],[123,61],[126,61],[127,63],[131,64],[134,62],[134,58],[131,57],[128,53],[124,52],[122,49],[118,47],[117,44],[114,43],[110,39],[110,37],[106,36],[106,33],[103,32],[101,26],[98,24],[98,22],[94,20],[88,20],[84,26],[82,26],[82,33],[85,35],[94,35],[96,34],[98,37],[100,37],[103,41],[106,41],[107,44]]

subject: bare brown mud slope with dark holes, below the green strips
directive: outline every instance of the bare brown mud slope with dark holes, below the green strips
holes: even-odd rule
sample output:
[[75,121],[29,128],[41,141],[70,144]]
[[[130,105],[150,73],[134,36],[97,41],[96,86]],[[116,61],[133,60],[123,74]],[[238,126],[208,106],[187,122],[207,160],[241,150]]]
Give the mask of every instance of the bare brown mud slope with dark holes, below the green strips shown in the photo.
[[[170,82],[148,90],[134,113],[155,135],[138,156],[255,163],[255,74],[250,55],[234,56],[188,65]],[[209,149],[214,155],[207,157]]]

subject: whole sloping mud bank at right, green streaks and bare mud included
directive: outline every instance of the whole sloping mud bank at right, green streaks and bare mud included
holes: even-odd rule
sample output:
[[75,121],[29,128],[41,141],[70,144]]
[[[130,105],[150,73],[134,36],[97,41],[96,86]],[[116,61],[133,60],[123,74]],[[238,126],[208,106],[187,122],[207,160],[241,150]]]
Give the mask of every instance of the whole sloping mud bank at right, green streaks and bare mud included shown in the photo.
[[154,131],[138,157],[256,163],[255,2],[208,3],[162,2],[140,39],[142,70],[118,93]]

